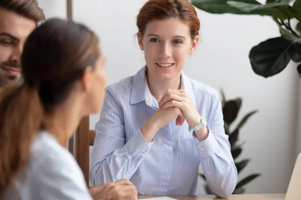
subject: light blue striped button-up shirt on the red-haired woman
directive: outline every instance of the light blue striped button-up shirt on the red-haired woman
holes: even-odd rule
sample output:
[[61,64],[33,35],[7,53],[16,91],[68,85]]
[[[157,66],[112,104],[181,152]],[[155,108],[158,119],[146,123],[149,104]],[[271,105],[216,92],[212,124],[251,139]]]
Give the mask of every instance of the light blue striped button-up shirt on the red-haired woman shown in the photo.
[[129,179],[140,195],[196,195],[201,163],[206,181],[220,197],[229,196],[237,183],[228,135],[215,89],[181,73],[181,87],[206,119],[209,136],[198,141],[185,121],[176,119],[161,128],[152,142],[140,127],[158,109],[145,86],[145,66],[135,75],[107,87],[95,125],[90,179],[93,185]]

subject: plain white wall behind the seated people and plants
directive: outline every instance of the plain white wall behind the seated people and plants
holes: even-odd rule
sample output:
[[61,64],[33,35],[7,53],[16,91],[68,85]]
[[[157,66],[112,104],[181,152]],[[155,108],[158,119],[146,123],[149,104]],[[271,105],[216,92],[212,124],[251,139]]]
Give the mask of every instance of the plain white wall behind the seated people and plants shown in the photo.
[[[48,16],[62,15],[64,11],[62,0],[40,2]],[[134,40],[135,17],[144,2],[74,0],[74,19],[87,24],[101,39],[108,84],[136,73],[144,64]],[[251,162],[239,179],[260,172],[262,176],[246,186],[246,193],[285,192],[295,159],[299,88],[295,65],[289,64],[280,74],[263,78],[252,71],[248,60],[253,45],[278,36],[277,26],[269,17],[213,15],[201,10],[198,15],[202,41],[188,59],[185,72],[216,89],[222,87],[229,98],[241,96],[239,119],[248,111],[259,109],[241,129],[239,138],[246,143],[240,158],[251,158]],[[91,129],[97,120],[97,114],[91,115]],[[204,193],[203,180],[199,184],[200,193]]]

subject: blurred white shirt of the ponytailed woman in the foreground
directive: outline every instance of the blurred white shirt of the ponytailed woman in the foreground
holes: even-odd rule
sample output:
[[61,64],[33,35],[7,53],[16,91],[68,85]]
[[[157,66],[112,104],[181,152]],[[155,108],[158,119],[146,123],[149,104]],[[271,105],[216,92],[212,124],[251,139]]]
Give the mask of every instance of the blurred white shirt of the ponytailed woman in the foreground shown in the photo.
[[83,173],[72,154],[46,131],[37,133],[31,158],[15,177],[4,199],[92,199]]

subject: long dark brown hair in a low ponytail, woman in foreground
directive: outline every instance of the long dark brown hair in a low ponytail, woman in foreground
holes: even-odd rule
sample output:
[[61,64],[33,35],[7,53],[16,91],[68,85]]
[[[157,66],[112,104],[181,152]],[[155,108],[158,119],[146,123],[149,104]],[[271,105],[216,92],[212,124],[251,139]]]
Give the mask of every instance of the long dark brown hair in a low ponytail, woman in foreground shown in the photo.
[[22,54],[24,83],[0,95],[0,198],[30,158],[30,144],[51,114],[100,55],[98,38],[86,26],[49,19],[28,37]]

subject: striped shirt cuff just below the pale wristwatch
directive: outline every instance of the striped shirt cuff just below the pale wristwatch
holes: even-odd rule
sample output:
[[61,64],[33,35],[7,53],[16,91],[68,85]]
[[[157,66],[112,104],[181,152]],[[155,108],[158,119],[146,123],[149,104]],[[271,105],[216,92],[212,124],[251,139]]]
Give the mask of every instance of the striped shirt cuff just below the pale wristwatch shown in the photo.
[[208,126],[207,128],[209,129],[209,134],[208,137],[203,141],[199,141],[195,135],[195,132],[193,132],[194,143],[201,158],[209,157],[212,153],[216,151],[216,149],[219,148],[219,144],[213,136],[213,133],[211,132]]

